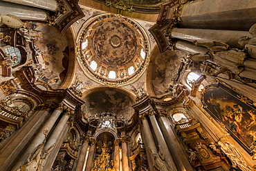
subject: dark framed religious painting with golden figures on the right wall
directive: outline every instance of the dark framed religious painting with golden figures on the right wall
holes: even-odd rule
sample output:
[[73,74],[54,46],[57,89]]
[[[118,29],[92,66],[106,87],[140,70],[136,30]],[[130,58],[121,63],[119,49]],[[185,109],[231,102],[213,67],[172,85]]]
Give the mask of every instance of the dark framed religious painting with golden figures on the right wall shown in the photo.
[[221,83],[207,86],[201,100],[203,108],[250,152],[256,140],[255,106]]

